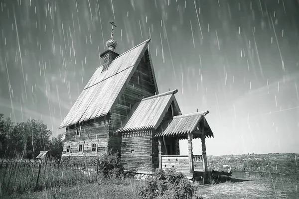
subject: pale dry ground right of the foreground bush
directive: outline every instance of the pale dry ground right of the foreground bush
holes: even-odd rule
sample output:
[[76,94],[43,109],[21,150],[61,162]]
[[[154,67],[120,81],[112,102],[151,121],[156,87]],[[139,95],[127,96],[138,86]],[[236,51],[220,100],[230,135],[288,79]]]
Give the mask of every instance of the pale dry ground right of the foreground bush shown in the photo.
[[299,182],[258,180],[200,186],[202,199],[299,199]]

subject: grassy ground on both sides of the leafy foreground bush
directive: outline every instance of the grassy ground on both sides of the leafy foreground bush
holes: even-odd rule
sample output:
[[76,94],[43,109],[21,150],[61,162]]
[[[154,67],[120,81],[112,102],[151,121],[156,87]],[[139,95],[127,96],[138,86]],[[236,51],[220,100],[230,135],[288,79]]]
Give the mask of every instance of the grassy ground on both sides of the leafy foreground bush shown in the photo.
[[[199,182],[200,183],[200,182]],[[263,178],[255,181],[199,185],[195,194],[201,199],[299,199],[299,181]],[[11,195],[4,199],[138,199],[137,189],[143,180],[108,180],[94,184],[61,187]],[[297,186],[297,191],[296,191]],[[61,192],[61,194],[60,194]]]

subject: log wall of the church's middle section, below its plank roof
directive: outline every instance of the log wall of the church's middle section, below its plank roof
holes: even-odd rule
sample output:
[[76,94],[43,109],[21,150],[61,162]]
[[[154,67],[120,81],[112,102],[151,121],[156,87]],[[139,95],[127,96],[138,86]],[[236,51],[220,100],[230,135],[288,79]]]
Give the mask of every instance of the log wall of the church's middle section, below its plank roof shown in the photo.
[[[143,136],[130,133],[122,136],[121,162],[126,170],[136,173],[151,174],[155,168],[152,153],[152,132],[147,131]],[[155,163],[157,165],[157,162]]]

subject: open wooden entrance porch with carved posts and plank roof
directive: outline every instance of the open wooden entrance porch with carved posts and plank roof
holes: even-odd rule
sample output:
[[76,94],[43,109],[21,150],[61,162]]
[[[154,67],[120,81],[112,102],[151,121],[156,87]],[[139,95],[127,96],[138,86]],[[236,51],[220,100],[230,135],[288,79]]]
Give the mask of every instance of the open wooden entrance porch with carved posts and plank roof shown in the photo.
[[[205,139],[214,137],[204,115],[208,111],[178,115],[166,121],[158,137],[158,168],[175,169],[188,178],[207,177],[208,166]],[[179,154],[179,140],[188,140],[188,155]],[[201,139],[202,154],[193,154],[192,139]]]

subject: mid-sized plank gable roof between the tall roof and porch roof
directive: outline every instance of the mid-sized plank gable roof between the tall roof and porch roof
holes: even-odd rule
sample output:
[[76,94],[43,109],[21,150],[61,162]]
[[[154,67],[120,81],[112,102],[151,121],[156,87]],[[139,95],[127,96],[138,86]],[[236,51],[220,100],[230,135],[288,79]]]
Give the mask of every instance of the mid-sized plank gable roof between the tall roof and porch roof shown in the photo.
[[176,109],[180,111],[174,97],[177,92],[177,90],[173,90],[137,102],[125,119],[123,126],[116,132],[156,129],[172,102],[174,102]]

